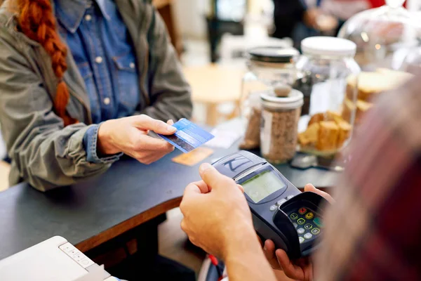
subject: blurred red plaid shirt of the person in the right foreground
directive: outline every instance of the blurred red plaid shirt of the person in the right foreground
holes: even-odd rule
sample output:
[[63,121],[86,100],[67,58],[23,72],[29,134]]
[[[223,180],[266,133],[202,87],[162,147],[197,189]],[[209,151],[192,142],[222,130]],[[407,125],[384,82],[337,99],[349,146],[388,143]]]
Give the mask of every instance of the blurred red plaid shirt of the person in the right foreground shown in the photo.
[[384,93],[360,129],[316,280],[421,280],[421,77]]

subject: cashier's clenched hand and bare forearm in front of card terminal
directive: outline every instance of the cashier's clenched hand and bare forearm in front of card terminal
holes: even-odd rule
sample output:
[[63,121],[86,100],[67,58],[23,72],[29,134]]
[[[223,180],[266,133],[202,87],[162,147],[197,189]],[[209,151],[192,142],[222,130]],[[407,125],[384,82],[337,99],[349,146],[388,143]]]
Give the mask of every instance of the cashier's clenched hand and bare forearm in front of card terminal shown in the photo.
[[210,164],[199,169],[203,181],[187,185],[180,204],[182,230],[193,244],[222,258],[229,281],[276,280],[253,228],[243,188]]

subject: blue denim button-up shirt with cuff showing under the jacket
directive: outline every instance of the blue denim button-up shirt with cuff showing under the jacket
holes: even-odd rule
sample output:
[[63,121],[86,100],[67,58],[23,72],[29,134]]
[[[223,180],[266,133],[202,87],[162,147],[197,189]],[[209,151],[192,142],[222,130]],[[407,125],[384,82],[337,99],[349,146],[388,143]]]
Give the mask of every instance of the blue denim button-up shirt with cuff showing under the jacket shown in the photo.
[[100,122],[133,115],[142,107],[135,52],[112,0],[55,0],[59,31],[85,81],[94,124],[83,137],[88,162],[114,162],[119,155],[99,157]]

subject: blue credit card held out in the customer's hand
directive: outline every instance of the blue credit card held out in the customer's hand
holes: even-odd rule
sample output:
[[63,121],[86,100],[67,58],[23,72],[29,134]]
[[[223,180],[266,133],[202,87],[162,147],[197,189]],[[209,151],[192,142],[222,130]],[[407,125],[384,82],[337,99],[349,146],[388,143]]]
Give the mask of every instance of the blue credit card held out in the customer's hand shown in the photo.
[[201,127],[184,118],[173,124],[173,126],[177,129],[173,135],[164,136],[158,134],[158,136],[185,153],[190,152],[195,148],[199,148],[203,143],[207,143],[215,138],[213,134],[208,133],[201,129]]

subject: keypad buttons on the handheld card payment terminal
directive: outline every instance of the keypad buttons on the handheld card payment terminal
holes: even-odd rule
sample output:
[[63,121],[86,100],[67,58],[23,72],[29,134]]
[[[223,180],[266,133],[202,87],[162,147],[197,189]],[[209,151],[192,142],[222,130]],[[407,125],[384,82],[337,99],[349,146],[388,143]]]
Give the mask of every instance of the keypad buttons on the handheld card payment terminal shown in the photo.
[[321,218],[311,209],[301,207],[288,214],[298,233],[300,244],[313,240],[321,233],[323,222]]

